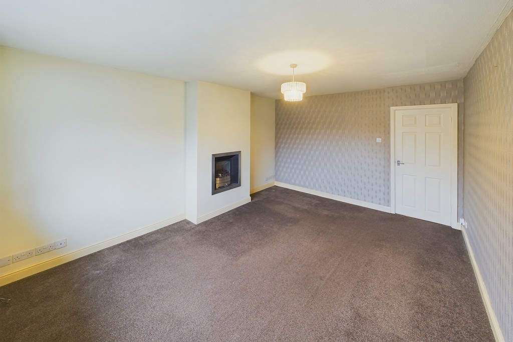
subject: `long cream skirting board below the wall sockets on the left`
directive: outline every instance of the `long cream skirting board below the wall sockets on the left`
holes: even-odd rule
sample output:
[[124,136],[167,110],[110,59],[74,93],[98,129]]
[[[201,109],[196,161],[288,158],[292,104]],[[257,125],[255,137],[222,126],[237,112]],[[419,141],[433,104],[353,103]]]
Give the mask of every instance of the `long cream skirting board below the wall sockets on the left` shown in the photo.
[[90,245],[90,246],[87,246],[87,247],[84,247],[84,248],[81,248],[81,249],[78,249],[78,250],[75,250],[75,251],[72,251],[72,252],[69,252],[66,254],[58,255],[54,258],[43,260],[43,261],[40,261],[40,262],[32,264],[32,265],[25,266],[24,268],[19,269],[19,270],[14,270],[10,273],[6,273],[6,274],[0,276],[0,286],[4,286],[6,284],[12,283],[13,281],[28,277],[29,275],[33,275],[33,274],[51,269],[52,267],[62,265],[64,263],[67,263],[68,261],[78,259],[82,256],[100,251],[107,247],[111,247],[111,246],[120,244],[120,243],[130,240],[134,237],[141,236],[146,233],[152,232],[154,230],[164,228],[166,226],[180,222],[183,219],[185,219],[185,214],[171,217],[171,218],[168,218],[159,223],[155,223],[150,226],[132,230],[131,232],[110,238],[110,239],[102,241],[100,243]]

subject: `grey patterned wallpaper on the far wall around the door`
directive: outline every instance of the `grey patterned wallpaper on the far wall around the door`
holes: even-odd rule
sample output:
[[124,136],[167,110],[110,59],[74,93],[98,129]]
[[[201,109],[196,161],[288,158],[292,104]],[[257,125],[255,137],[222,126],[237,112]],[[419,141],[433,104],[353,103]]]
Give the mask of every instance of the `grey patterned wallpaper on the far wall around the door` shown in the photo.
[[275,179],[388,207],[390,107],[440,103],[460,104],[461,126],[463,81],[277,100]]

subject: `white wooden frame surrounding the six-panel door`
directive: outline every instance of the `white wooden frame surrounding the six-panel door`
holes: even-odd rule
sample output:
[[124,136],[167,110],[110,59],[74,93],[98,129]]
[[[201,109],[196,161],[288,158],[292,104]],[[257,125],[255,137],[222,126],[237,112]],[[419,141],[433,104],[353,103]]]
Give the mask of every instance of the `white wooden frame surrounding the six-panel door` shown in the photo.
[[450,167],[450,220],[458,229],[458,104],[390,107],[390,212],[396,213],[396,110],[449,108],[451,109],[451,167]]

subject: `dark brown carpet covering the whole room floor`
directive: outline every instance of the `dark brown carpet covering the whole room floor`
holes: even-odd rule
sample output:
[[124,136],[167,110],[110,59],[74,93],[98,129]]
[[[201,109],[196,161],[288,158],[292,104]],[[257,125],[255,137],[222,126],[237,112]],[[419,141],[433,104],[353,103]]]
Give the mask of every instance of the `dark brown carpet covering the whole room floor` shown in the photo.
[[2,341],[493,341],[460,231],[272,187],[0,288]]

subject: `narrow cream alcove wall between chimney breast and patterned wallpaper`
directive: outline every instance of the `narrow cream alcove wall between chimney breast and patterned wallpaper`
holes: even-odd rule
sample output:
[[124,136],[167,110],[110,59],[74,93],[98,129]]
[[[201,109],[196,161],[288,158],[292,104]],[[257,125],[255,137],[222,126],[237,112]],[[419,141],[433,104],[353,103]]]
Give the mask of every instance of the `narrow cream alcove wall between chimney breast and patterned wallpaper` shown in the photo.
[[251,193],[274,183],[275,108],[274,99],[251,95]]

